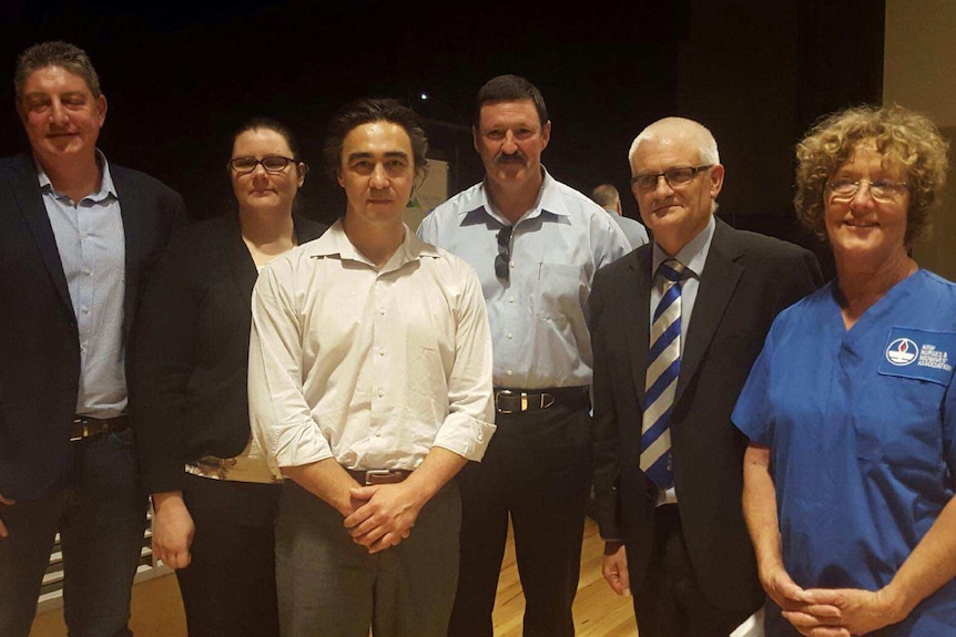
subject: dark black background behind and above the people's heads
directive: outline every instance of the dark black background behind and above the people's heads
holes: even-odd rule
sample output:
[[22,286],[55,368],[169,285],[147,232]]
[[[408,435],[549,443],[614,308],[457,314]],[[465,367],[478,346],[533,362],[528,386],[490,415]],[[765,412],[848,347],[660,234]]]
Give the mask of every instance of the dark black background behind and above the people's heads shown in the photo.
[[[100,145],[155,175],[205,218],[233,208],[232,131],[268,115],[312,165],[305,212],[329,220],[344,197],[321,148],[332,113],[365,96],[406,101],[430,121],[451,194],[481,178],[467,125],[480,85],[528,78],[552,121],[543,162],[582,192],[612,182],[624,213],[627,152],[667,115],[695,119],[728,167],[721,216],[813,247],[793,222],[793,147],[818,116],[882,97],[884,3],[875,0],[659,0],[550,4],[202,0],[0,6],[0,154],[27,150],[17,54],[39,41],[83,48],[109,100]],[[423,102],[420,92],[431,100]]]

